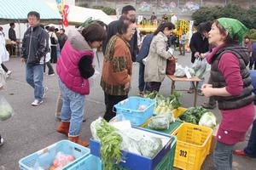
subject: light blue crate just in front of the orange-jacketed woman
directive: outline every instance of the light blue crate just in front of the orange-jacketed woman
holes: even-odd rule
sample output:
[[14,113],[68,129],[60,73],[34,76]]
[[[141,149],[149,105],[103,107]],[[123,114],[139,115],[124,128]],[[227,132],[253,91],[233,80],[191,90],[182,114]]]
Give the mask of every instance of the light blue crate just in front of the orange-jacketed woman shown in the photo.
[[[141,105],[146,106],[143,111],[138,111]],[[116,116],[119,119],[129,120],[132,126],[140,126],[153,116],[155,100],[140,97],[130,97],[114,105]]]

